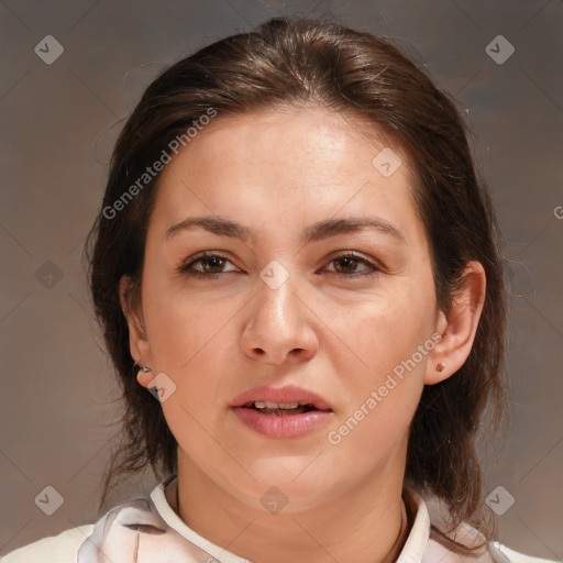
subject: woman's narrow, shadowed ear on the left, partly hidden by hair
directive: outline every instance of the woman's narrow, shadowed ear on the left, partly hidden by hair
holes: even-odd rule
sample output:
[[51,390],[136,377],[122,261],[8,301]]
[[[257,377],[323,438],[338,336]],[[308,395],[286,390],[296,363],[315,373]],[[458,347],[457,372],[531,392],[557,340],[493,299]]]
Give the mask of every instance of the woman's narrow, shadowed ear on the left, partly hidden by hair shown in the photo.
[[[129,350],[131,352],[131,356],[141,367],[150,367],[153,365],[151,344],[144,328],[145,324],[141,303],[137,302],[136,296],[134,296],[130,276],[123,276],[120,279],[119,299],[121,302],[121,309],[128,321]],[[147,387],[153,377],[154,375],[151,372],[146,374],[140,373],[137,380],[143,387]]]

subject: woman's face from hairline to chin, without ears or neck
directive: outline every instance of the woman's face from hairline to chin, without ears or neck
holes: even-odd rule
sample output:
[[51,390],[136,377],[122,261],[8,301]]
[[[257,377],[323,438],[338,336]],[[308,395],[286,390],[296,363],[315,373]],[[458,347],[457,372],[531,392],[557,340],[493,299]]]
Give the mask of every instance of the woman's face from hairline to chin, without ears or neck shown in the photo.
[[[271,487],[305,509],[402,481],[441,316],[408,157],[355,125],[322,109],[219,114],[159,180],[132,355],[161,374],[180,467],[254,506]],[[311,391],[322,411],[233,407],[264,386],[301,389],[285,402]]]

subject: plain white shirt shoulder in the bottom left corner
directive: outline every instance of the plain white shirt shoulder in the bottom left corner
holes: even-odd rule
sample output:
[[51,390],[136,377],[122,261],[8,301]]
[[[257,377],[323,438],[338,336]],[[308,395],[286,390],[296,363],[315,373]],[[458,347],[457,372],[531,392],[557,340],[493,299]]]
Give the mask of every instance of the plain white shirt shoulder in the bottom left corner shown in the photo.
[[44,538],[0,558],[1,563],[59,563],[76,561],[78,549],[92,533],[93,525],[65,530],[58,536]]

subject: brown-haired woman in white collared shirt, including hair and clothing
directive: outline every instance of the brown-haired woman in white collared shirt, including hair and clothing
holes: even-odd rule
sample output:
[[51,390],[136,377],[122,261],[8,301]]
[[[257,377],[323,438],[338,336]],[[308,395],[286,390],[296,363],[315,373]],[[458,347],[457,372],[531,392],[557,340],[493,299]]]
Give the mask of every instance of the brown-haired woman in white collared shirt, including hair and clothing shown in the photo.
[[[20,561],[533,561],[493,542],[501,238],[449,98],[275,19],[172,66],[118,140],[91,290],[150,498]],[[147,393],[147,389],[150,393]]]

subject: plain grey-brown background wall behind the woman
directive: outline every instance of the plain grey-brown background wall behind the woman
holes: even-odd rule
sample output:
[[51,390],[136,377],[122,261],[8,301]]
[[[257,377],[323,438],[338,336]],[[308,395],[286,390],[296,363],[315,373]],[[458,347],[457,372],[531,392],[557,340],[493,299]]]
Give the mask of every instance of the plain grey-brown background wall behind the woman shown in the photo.
[[[467,110],[511,264],[512,427],[504,448],[497,442],[486,457],[487,493],[500,485],[515,498],[499,517],[500,541],[560,560],[563,5],[556,0],[0,2],[0,552],[97,516],[120,410],[80,254],[120,120],[163,66],[282,11],[333,13],[397,40]],[[499,34],[516,48],[501,65],[485,51]],[[65,49],[52,65],[34,53],[46,35]],[[151,475],[140,476],[111,501],[153,484]],[[64,497],[51,517],[34,503],[47,485]],[[504,492],[498,498],[509,499]]]

